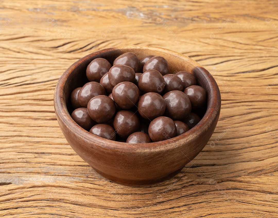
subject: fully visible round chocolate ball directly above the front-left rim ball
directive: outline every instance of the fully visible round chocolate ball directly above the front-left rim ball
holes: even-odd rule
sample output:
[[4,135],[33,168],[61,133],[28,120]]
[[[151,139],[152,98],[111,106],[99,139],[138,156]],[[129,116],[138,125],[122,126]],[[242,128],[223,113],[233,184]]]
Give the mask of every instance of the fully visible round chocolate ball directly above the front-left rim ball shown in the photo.
[[105,123],[113,118],[116,106],[110,97],[98,95],[88,102],[87,110],[94,121]]

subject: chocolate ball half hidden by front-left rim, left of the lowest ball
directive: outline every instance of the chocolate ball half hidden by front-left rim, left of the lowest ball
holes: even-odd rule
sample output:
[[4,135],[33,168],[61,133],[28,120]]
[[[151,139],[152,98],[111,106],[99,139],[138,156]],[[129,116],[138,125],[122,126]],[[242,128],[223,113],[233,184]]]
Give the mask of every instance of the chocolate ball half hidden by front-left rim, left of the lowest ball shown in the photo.
[[90,131],[92,134],[115,141],[116,140],[116,133],[112,126],[108,124],[96,124],[93,126]]

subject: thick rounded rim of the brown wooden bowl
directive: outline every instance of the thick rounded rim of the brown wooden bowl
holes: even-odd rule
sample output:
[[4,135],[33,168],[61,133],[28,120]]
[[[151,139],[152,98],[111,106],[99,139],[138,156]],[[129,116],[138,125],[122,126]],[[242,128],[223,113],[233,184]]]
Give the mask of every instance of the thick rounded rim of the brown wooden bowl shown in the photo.
[[[171,52],[172,55],[174,56],[182,56],[184,59],[186,59],[189,64],[191,64],[194,67],[197,67],[198,69],[202,70],[203,76],[206,77],[207,81],[210,81],[209,86],[211,89],[211,99],[210,102],[208,102],[207,105],[207,111],[205,112],[205,115],[203,118],[196,124],[192,129],[188,130],[187,132],[175,136],[171,139],[166,139],[163,141],[159,142],[150,142],[150,143],[144,143],[144,144],[132,144],[132,143],[126,143],[126,142],[118,142],[118,141],[112,141],[109,139],[105,139],[99,136],[96,136],[94,134],[91,134],[90,132],[86,131],[82,127],[80,127],[72,118],[71,115],[68,112],[68,109],[66,107],[66,100],[64,98],[64,84],[65,81],[70,77],[71,72],[74,71],[76,68],[80,67],[81,63],[84,61],[92,61],[93,59],[97,57],[101,57],[102,54],[109,54],[110,52],[115,52],[117,50],[122,50],[122,49],[148,49],[152,51],[160,51],[160,52]],[[193,73],[193,72],[191,72]],[[204,134],[204,132],[208,129],[210,125],[214,122],[215,119],[218,119],[219,116],[219,111],[221,107],[221,96],[220,96],[220,91],[219,87],[213,78],[213,76],[207,71],[205,68],[202,67],[198,62],[194,61],[188,56],[185,56],[181,53],[165,49],[165,48],[160,48],[160,47],[155,47],[155,46],[139,46],[139,45],[126,45],[126,46],[115,46],[115,47],[110,47],[110,48],[105,48],[101,49],[95,52],[92,52],[76,62],[74,62],[64,73],[61,75],[59,78],[55,91],[54,91],[54,110],[59,119],[63,122],[67,128],[71,129],[76,135],[79,137],[82,135],[83,136],[83,141],[88,142],[84,143],[84,146],[88,145],[91,147],[95,146],[100,146],[100,147],[105,147],[109,149],[120,149],[120,150],[132,150],[132,151],[150,151],[154,149],[170,149],[168,147],[169,143],[172,144],[171,148],[173,146],[181,146],[181,143],[179,143],[182,139],[187,139],[187,141],[193,140],[192,138],[196,135],[199,134]],[[193,134],[195,133],[195,134]],[[94,142],[94,144],[90,144],[91,142]]]

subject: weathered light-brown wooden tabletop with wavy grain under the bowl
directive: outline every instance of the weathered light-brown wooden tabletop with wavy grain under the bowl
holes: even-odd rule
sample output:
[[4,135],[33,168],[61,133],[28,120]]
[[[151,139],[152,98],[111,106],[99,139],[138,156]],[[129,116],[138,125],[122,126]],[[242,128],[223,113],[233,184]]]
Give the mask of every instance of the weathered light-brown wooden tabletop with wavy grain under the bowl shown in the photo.
[[[0,217],[278,217],[277,1],[1,1]],[[214,75],[219,122],[174,178],[103,179],[59,129],[59,76],[99,49],[153,45]]]

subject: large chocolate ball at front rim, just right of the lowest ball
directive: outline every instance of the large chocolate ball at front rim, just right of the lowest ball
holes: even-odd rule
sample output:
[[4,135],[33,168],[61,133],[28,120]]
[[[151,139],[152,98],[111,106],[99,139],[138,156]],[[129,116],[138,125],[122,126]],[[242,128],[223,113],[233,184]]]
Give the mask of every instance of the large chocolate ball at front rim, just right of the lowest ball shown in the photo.
[[153,142],[163,141],[177,135],[175,122],[165,116],[155,118],[148,129],[149,136]]

